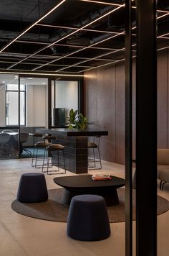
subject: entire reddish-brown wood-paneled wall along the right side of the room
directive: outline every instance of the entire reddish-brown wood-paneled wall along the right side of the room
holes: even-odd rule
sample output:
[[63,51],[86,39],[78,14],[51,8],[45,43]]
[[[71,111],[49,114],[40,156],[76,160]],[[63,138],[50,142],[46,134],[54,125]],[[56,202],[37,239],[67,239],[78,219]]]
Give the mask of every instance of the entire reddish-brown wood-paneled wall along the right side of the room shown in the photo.
[[[169,58],[158,52],[158,147],[169,147]],[[132,134],[135,158],[135,60],[132,68]],[[107,129],[101,138],[102,160],[125,164],[125,65],[84,73],[85,112],[91,125]],[[146,124],[145,124],[146,125]]]

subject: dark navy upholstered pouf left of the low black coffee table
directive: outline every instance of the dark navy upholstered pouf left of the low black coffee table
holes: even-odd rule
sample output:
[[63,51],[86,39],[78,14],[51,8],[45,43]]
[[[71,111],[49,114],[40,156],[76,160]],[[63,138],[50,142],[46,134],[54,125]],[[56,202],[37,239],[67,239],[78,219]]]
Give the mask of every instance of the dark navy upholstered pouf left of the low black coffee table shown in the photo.
[[17,200],[24,203],[47,201],[47,183],[43,173],[24,173],[19,180]]

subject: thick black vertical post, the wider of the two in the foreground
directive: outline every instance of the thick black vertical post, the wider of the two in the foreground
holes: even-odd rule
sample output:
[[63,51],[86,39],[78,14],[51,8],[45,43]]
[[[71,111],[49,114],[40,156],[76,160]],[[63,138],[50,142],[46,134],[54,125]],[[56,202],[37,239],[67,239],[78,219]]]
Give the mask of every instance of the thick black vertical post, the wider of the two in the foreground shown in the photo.
[[156,1],[137,0],[136,255],[157,255]]

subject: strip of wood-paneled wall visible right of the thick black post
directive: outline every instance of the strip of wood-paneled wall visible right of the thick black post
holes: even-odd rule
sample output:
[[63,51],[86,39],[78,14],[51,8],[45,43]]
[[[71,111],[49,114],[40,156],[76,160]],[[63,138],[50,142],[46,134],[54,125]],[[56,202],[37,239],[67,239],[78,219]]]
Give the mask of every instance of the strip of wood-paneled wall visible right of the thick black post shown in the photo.
[[168,63],[167,55],[158,55],[158,147],[168,145]]

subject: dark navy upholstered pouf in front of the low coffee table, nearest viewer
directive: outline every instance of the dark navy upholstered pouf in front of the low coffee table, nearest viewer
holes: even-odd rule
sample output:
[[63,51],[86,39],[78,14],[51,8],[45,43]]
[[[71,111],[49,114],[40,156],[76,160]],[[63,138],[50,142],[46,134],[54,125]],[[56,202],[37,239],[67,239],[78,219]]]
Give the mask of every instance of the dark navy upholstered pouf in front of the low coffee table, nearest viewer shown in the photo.
[[102,240],[110,236],[107,207],[102,196],[79,195],[72,198],[67,235],[83,241]]

